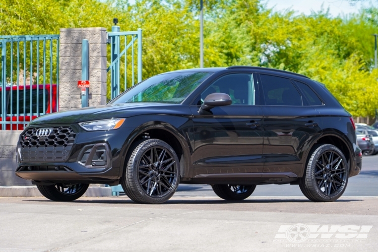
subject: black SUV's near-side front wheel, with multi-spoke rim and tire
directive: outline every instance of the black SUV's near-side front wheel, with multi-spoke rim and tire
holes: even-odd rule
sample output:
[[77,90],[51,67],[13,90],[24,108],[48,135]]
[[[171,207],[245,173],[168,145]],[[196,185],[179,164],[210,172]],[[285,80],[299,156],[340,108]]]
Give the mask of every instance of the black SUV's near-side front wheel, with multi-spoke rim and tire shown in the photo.
[[159,139],[140,141],[131,147],[126,160],[120,182],[131,200],[160,204],[173,196],[180,179],[180,162],[171,146]]

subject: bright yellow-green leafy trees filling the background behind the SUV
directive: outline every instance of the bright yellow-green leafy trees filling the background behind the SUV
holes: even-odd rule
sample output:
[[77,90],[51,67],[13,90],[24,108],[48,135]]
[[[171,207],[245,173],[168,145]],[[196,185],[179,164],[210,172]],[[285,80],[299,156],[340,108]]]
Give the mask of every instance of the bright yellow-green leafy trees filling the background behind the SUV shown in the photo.
[[[327,11],[273,12],[259,0],[205,0],[204,11],[205,67],[249,65],[305,74],[325,83],[354,116],[373,115],[378,108],[371,36],[378,9],[342,18]],[[0,0],[2,35],[110,30],[113,17],[121,30],[143,29],[144,78],[199,67],[199,1]]]

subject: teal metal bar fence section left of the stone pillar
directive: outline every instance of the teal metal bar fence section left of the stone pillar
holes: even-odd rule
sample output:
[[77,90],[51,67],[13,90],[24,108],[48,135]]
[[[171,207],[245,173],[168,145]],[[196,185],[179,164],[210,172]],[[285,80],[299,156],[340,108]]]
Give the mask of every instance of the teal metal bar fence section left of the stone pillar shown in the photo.
[[0,36],[0,130],[59,108],[59,35]]

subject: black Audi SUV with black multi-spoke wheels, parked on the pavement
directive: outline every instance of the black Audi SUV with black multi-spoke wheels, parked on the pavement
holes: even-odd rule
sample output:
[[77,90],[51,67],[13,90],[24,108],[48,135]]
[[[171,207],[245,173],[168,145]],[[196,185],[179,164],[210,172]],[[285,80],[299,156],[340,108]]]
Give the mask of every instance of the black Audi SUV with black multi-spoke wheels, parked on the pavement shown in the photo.
[[325,85],[234,66],[156,75],[107,105],[38,117],[17,161],[16,175],[53,201],[76,200],[91,183],[120,183],[150,204],[179,183],[211,184],[225,200],[290,183],[329,202],[359,174],[362,153],[351,114]]

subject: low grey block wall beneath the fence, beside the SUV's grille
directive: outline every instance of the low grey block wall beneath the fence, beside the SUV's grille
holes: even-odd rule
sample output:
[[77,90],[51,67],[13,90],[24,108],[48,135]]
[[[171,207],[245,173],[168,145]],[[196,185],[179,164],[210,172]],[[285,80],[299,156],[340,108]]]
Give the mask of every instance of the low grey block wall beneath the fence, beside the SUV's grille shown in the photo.
[[0,131],[0,186],[31,185],[15,175],[16,145],[22,131]]

